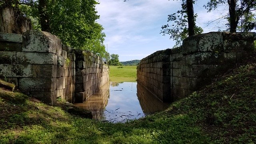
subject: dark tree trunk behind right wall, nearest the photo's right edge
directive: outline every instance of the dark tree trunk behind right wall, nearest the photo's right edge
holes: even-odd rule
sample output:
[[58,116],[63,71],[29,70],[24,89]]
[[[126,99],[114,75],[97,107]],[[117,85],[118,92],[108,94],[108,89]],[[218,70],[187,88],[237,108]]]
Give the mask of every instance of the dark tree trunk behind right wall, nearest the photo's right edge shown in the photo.
[[230,32],[236,32],[236,0],[228,0],[229,16],[230,16]]

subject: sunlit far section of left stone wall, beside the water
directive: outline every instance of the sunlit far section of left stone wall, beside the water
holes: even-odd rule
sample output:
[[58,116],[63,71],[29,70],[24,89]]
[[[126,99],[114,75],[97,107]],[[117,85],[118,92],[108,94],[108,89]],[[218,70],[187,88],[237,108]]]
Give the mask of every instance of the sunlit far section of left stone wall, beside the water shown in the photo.
[[88,51],[76,52],[76,99],[84,102],[109,81],[108,65]]

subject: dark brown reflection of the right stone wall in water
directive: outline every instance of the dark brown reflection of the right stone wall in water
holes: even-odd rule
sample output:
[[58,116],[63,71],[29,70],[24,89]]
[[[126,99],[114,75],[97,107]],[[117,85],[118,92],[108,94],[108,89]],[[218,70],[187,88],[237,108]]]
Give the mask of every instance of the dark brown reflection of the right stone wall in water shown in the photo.
[[165,110],[170,105],[170,103],[161,102],[154,94],[148,91],[140,83],[137,83],[137,96],[144,113],[152,113]]

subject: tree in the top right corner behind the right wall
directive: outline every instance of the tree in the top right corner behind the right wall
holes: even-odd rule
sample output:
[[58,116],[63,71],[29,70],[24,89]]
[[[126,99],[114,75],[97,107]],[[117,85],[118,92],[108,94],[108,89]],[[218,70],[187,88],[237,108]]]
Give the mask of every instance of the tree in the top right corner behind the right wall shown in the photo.
[[248,32],[256,30],[255,0],[210,0],[204,7],[208,12],[215,10],[220,4],[228,4],[229,14],[226,14],[230,32]]

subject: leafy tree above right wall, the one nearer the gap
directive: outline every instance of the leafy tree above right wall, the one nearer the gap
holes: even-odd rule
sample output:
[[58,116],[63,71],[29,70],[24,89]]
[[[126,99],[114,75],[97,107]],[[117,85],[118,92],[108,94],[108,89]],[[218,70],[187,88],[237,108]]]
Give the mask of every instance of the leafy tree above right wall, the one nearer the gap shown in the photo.
[[181,10],[168,15],[167,22],[172,23],[162,26],[160,33],[163,36],[170,35],[170,39],[176,41],[174,47],[180,46],[186,37],[203,32],[203,29],[195,24],[197,14],[194,14],[193,3],[193,0],[182,0]]

